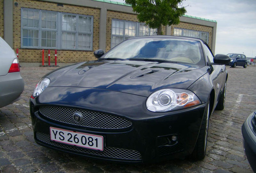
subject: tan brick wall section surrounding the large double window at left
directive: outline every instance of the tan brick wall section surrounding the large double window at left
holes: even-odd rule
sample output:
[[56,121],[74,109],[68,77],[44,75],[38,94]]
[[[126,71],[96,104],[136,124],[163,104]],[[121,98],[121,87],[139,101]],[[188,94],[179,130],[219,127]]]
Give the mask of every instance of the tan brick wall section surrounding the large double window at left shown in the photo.
[[[1,0],[0,2],[2,2]],[[55,12],[67,12],[93,16],[93,51],[99,49],[99,17],[100,10],[82,6],[64,4],[57,6],[56,3],[41,2],[36,0],[15,0],[19,5],[13,7],[13,48],[19,48],[20,62],[41,62],[41,49],[21,49],[21,8],[49,10]],[[0,5],[1,7],[1,5]],[[1,19],[1,18],[0,18]],[[57,50],[58,62],[82,62],[93,60],[93,51],[80,50]],[[45,62],[48,62],[48,50],[45,50]],[[51,62],[54,62],[54,50],[51,50]]]

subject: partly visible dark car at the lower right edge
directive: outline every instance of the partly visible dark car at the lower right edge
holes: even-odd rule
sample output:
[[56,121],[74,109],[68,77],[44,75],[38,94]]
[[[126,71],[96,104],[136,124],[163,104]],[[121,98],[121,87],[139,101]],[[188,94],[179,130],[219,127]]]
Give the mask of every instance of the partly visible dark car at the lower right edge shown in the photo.
[[256,111],[242,125],[242,135],[247,159],[256,172]]

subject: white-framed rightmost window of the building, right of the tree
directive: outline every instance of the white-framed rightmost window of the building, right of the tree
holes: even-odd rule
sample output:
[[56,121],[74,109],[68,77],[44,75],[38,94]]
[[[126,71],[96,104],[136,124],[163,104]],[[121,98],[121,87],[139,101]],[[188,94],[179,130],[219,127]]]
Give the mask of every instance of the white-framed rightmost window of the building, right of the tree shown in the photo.
[[[188,37],[193,37],[193,38],[200,38],[204,40],[207,44],[209,42],[209,32],[204,32],[204,31],[198,31],[198,30],[189,30],[189,29],[184,29],[184,28],[174,28],[173,30],[173,35],[174,36],[188,36]],[[186,32],[189,32],[189,34],[186,34]],[[202,38],[202,34],[207,34],[206,40]],[[197,36],[199,35],[199,36]]]

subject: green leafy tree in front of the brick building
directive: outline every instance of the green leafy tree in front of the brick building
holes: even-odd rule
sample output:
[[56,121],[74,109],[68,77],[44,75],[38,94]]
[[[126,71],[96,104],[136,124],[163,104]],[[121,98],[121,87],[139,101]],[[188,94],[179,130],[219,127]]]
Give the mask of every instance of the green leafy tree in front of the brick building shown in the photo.
[[186,13],[183,0],[125,0],[138,13],[139,22],[145,22],[150,28],[157,28],[157,35],[163,35],[162,25],[180,23],[180,16]]

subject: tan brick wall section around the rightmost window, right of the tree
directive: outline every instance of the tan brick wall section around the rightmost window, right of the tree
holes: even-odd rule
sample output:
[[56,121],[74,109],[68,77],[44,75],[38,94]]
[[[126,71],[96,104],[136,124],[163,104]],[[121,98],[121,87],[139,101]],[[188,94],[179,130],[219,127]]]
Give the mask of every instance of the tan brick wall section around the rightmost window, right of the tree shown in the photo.
[[209,44],[210,48],[212,47],[212,38],[213,38],[213,28],[212,27],[198,25],[198,24],[191,24],[191,23],[186,23],[186,22],[180,22],[178,25],[171,26],[171,35],[174,34],[174,28],[183,28],[183,29],[189,29],[189,30],[209,32],[208,44]]

